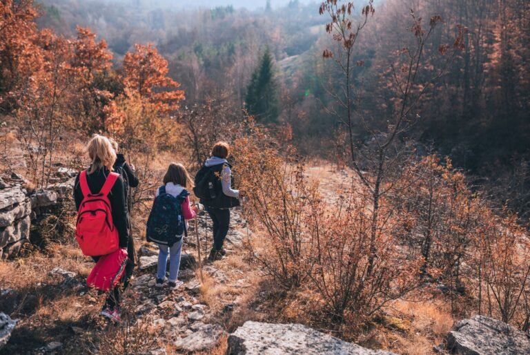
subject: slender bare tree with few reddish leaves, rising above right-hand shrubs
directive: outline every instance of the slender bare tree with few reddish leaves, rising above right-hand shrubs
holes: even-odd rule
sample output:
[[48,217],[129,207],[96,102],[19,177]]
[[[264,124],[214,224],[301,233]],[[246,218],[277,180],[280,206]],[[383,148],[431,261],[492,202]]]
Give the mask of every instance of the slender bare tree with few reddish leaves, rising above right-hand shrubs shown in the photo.
[[[396,61],[390,65],[391,85],[395,88],[395,104],[391,115],[385,119],[386,128],[381,131],[377,130],[369,124],[364,113],[360,110],[362,96],[360,93],[356,94],[352,86],[352,75],[355,67],[363,65],[362,61],[353,62],[353,48],[355,48],[360,32],[366,27],[369,17],[375,13],[373,0],[369,0],[367,5],[362,8],[360,20],[355,25],[354,9],[352,1],[341,4],[340,1],[327,0],[321,4],[320,14],[327,13],[330,17],[331,22],[326,24],[326,32],[333,35],[333,40],[337,42],[335,51],[326,49],[323,56],[324,58],[335,59],[342,77],[342,84],[337,89],[337,93],[331,93],[331,95],[337,102],[337,106],[346,112],[346,119],[343,121],[345,121],[349,133],[351,166],[371,196],[371,247],[368,272],[368,276],[371,276],[374,260],[377,258],[377,235],[382,231],[380,219],[386,220],[387,217],[380,216],[381,200],[395,187],[397,179],[394,173],[400,160],[407,159],[406,155],[403,154],[407,151],[407,145],[404,144],[402,148],[398,148],[397,138],[402,133],[409,131],[409,128],[415,124],[417,113],[416,115],[414,113],[420,98],[427,88],[445,73],[451,57],[430,79],[419,82],[420,72],[423,69],[421,64],[424,60],[425,47],[429,44],[429,38],[433,35],[437,25],[442,22],[442,18],[438,15],[431,17],[429,25],[425,28],[422,18],[417,17],[411,10],[411,27],[408,30],[413,34],[413,40],[395,53]],[[453,45],[454,49],[463,48],[463,33],[464,29],[460,28],[459,36]],[[445,55],[449,48],[448,45],[442,45],[439,50],[442,55]],[[353,109],[354,104],[356,104],[357,110]],[[341,113],[336,110],[331,111],[331,113],[342,118]],[[355,122],[354,115],[357,116]],[[357,122],[369,133],[369,144],[360,146],[355,142],[354,127]]]

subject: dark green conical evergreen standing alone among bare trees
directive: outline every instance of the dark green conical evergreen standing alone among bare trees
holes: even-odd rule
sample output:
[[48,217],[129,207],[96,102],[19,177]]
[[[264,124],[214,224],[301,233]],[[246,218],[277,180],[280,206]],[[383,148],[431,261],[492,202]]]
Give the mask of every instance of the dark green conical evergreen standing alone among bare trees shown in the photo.
[[263,122],[278,118],[277,87],[271,50],[266,48],[248,84],[245,107],[251,115]]

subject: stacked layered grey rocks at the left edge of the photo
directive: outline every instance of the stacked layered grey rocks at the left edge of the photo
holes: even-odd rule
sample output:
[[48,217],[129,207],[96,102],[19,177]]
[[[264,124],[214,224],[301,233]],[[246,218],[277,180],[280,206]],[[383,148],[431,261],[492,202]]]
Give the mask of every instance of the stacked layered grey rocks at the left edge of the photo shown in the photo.
[[0,191],[0,258],[16,253],[28,240],[30,213],[25,189],[12,186]]

